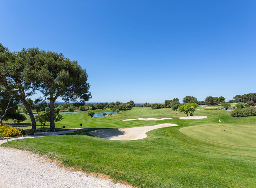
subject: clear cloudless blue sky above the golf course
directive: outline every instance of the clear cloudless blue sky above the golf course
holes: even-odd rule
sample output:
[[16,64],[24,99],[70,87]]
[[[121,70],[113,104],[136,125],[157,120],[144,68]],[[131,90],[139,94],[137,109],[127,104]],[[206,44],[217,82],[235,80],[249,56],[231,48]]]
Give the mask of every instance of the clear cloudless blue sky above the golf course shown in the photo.
[[256,1],[0,1],[0,12],[0,43],[77,60],[90,101],[256,92]]

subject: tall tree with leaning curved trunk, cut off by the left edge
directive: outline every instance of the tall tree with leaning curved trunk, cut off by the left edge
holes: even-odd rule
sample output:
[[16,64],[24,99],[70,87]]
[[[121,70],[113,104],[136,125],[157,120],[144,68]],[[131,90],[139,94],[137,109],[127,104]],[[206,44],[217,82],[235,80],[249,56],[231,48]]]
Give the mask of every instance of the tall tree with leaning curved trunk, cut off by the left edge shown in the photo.
[[38,49],[30,48],[11,53],[7,47],[0,44],[0,87],[23,103],[30,116],[32,129],[36,129],[37,124],[26,99],[35,94],[37,88],[33,86],[32,80],[24,77],[24,70],[31,68],[38,53]]

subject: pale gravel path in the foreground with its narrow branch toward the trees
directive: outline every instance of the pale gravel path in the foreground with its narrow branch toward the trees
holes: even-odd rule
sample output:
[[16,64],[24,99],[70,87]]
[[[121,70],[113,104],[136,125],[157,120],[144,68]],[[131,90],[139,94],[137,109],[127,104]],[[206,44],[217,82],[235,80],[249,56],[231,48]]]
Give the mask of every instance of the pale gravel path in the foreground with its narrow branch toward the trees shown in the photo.
[[[65,134],[78,129],[55,132]],[[41,133],[52,135],[53,133]],[[42,137],[33,135],[24,139]],[[22,138],[13,138],[14,139]],[[0,140],[0,145],[6,140]],[[62,168],[29,151],[0,147],[0,187],[1,188],[132,188],[110,180],[98,179],[89,174]]]

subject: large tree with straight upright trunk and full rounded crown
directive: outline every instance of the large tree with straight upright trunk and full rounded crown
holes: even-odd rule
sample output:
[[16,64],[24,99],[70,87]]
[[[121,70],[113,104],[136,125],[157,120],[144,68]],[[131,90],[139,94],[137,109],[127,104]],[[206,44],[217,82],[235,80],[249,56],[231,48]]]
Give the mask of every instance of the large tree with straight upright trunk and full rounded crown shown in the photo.
[[88,76],[77,61],[65,58],[62,53],[41,50],[34,60],[33,65],[24,68],[23,75],[32,81],[32,87],[50,100],[50,130],[54,130],[56,99],[61,96],[65,102],[79,104],[88,101],[91,98]]

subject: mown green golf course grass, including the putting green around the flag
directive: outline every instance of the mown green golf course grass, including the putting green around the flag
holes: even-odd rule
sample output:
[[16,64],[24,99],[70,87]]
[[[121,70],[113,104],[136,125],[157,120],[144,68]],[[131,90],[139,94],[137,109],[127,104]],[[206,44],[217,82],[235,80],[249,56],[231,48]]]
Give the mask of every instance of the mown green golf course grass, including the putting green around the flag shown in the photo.
[[[90,130],[160,123],[179,126],[149,131],[147,138],[136,141],[106,140],[88,134],[90,130],[79,130],[10,141],[8,147],[48,154],[63,165],[106,174],[114,181],[127,181],[138,187],[256,187],[256,117],[235,118],[229,111],[207,109],[197,110],[195,115],[208,118],[181,120],[178,117],[186,116],[184,113],[151,108],[132,108],[106,118],[90,118],[86,113],[63,114],[64,119],[56,127],[75,128],[80,123]],[[122,121],[151,117],[173,119]],[[221,133],[218,119],[222,121]]]

